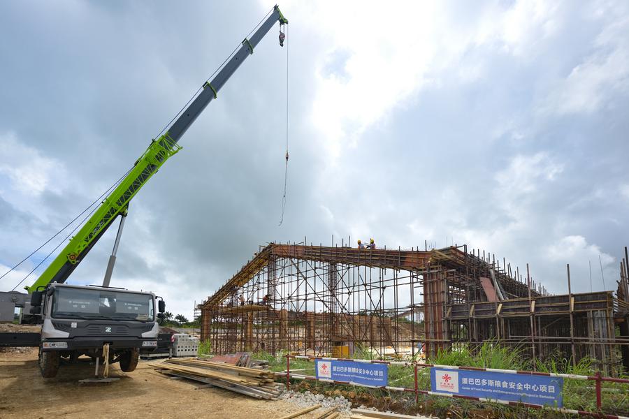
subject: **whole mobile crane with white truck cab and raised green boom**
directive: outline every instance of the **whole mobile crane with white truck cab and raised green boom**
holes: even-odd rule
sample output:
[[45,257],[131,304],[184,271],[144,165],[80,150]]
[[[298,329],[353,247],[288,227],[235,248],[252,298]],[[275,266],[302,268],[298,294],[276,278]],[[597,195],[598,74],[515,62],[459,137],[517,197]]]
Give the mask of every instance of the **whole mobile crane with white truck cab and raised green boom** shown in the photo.
[[[152,293],[127,291],[109,285],[129,202],[157,170],[179,152],[182,147],[178,142],[182,135],[205,107],[217,98],[225,82],[253,54],[254,47],[275,22],[280,23],[280,45],[283,46],[285,36],[282,28],[288,20],[280,8],[274,6],[266,20],[259,24],[251,38],[243,40],[215,78],[203,84],[187,108],[167,127],[166,133],[151,141],[133,168],[35,283],[24,287],[28,294],[0,293],[0,321],[13,320],[15,307],[21,307],[22,323],[42,324],[41,333],[36,337],[27,336],[34,334],[0,333],[0,346],[38,346],[39,366],[44,378],[56,376],[61,358],[76,359],[79,355],[88,355],[97,362],[108,358],[106,361],[120,362],[122,371],[130,372],[136,368],[140,351],[151,351],[157,346],[157,318],[161,318],[165,311],[164,300]],[[103,285],[64,284],[118,216],[120,225]],[[27,298],[29,295],[30,300]]]

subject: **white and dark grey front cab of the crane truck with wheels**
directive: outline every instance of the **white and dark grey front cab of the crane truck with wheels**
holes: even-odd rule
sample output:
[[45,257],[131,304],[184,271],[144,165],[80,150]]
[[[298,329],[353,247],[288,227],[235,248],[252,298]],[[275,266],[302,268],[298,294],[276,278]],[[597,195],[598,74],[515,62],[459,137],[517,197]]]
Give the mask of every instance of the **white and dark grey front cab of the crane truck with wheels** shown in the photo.
[[56,376],[62,358],[72,362],[87,355],[102,360],[106,344],[109,362],[120,362],[124,372],[133,371],[140,352],[157,348],[157,318],[164,313],[165,305],[153,293],[124,288],[52,282],[34,291],[30,311],[42,325],[41,375]]

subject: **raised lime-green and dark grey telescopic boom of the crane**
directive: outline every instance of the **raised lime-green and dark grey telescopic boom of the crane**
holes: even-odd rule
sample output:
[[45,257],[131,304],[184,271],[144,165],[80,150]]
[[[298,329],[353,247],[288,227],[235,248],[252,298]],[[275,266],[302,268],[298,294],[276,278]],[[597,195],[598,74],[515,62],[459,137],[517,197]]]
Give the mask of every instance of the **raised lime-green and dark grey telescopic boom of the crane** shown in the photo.
[[[195,121],[205,107],[217,97],[218,91],[229,80],[231,75],[238,69],[250,54],[253,54],[254,47],[273,27],[275,22],[280,25],[287,24],[288,20],[280,12],[280,8],[275,6],[266,20],[254,32],[249,39],[245,38],[242,46],[233,54],[231,59],[217,73],[215,78],[205,82],[203,89],[191,101],[190,105],[183,110],[178,119],[168,128],[168,131],[157,140],[152,140],[147,150],[140,156],[124,179],[118,186],[103,200],[96,212],[85,222],[78,233],[71,238],[70,242],[59,253],[59,256],[52,260],[52,263],[40,275],[31,286],[24,287],[29,293],[37,288],[48,285],[50,282],[63,283],[70,276],[72,271],[90,249],[96,244],[99,238],[111,226],[117,216],[125,216],[129,207],[129,201],[136,196],[142,186],[154,175],[166,161],[176,154],[180,149],[178,141],[187,131],[189,126]],[[283,41],[280,35],[281,41]]]

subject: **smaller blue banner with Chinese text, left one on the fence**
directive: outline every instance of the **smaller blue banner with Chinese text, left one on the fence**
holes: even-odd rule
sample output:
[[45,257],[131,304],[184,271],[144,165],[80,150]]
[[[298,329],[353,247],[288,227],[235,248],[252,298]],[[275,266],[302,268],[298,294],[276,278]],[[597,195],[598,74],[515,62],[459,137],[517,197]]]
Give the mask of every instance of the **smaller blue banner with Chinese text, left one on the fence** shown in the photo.
[[389,367],[384,364],[366,362],[315,360],[317,378],[336,381],[352,381],[363,385],[386,385],[389,381]]

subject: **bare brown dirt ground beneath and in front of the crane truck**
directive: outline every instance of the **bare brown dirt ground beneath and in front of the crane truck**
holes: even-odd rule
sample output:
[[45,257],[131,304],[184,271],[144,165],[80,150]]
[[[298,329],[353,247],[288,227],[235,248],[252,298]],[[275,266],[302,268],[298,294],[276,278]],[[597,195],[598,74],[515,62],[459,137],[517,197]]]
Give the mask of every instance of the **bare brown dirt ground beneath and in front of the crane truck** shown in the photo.
[[[81,384],[94,365],[62,365],[56,378],[42,378],[36,348],[0,351],[0,418],[280,418],[299,408],[286,401],[264,401],[220,388],[195,390],[201,383],[173,380],[140,361],[134,372],[110,367],[119,381]],[[303,416],[308,418],[308,416]]]

